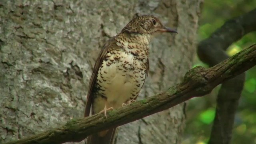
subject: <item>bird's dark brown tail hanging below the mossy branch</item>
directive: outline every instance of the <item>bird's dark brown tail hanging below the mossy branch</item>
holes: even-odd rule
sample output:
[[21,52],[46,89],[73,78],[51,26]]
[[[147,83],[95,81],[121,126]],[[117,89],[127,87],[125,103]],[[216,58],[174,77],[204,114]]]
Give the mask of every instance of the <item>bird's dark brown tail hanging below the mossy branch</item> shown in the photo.
[[86,144],[112,144],[116,128],[88,136]]

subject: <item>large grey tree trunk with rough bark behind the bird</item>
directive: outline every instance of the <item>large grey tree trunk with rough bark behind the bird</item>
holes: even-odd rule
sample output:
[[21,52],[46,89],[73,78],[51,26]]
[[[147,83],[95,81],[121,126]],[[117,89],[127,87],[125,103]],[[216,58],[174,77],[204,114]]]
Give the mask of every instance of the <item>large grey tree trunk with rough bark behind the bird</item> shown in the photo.
[[[178,30],[153,38],[150,74],[138,99],[180,82],[192,66],[202,2],[1,0],[0,143],[82,117],[100,48],[136,12]],[[180,144],[184,108],[180,104],[120,126],[114,143]]]

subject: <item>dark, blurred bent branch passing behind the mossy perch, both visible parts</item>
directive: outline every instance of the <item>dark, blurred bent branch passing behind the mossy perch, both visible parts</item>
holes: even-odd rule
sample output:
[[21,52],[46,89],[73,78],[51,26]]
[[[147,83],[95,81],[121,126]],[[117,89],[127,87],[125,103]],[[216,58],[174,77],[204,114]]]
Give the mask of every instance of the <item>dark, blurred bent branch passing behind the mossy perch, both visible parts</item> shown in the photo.
[[[255,15],[256,9],[228,20],[210,38],[200,42],[197,51],[200,60],[211,67],[227,59],[229,56],[224,50],[248,32],[256,30],[256,19],[252,18]],[[230,143],[234,116],[243,90],[244,80],[245,74],[242,73],[222,84],[217,96],[216,115],[209,144]]]

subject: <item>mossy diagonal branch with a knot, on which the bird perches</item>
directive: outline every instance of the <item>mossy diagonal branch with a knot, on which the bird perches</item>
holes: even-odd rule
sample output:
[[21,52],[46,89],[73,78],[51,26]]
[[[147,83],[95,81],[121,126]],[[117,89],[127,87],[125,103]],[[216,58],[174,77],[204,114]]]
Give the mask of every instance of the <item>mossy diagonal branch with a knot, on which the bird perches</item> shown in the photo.
[[171,108],[190,98],[208,94],[218,84],[241,74],[254,65],[256,65],[255,44],[212,68],[205,69],[201,66],[192,68],[186,73],[181,84],[144,100],[134,102],[130,106],[108,111],[108,119],[104,117],[104,114],[96,114],[87,118],[70,120],[60,128],[47,130],[7,144],[79,142],[92,133],[133,122]]

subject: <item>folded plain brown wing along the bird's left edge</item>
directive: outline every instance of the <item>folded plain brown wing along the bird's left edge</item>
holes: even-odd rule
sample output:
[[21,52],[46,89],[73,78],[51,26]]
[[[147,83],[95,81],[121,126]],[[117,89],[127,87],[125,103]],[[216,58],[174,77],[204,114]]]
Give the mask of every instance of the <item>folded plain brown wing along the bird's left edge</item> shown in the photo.
[[90,115],[90,110],[91,110],[91,105],[92,105],[92,91],[94,88],[94,85],[96,83],[97,75],[98,75],[98,70],[102,64],[102,61],[104,60],[106,54],[108,53],[109,50],[112,50],[114,48],[117,48],[118,46],[116,45],[116,40],[115,37],[110,38],[106,44],[104,44],[103,48],[100,50],[100,54],[94,64],[94,68],[92,71],[92,76],[90,79],[89,83],[89,89],[87,93],[87,98],[86,98],[86,105],[85,105],[85,111],[84,111],[84,117],[87,117]]

